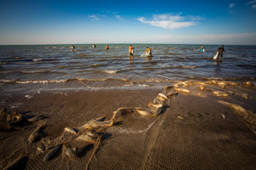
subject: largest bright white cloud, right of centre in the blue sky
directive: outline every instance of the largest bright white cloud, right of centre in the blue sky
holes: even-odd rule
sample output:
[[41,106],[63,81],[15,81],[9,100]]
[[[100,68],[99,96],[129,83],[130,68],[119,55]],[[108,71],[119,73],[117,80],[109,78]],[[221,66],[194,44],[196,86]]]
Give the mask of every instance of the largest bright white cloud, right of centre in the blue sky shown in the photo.
[[181,13],[178,13],[176,16],[171,16],[170,14],[161,14],[154,15],[153,21],[147,21],[146,18],[140,17],[137,18],[142,23],[148,23],[151,26],[158,26],[166,29],[176,29],[189,26],[196,26],[201,18],[200,16],[180,16]]

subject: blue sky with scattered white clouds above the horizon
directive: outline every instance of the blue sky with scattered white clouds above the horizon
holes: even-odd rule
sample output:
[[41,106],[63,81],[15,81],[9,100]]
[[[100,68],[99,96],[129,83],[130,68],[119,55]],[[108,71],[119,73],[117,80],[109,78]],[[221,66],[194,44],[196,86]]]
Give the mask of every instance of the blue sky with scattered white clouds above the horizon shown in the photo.
[[0,45],[256,45],[256,0],[0,1]]

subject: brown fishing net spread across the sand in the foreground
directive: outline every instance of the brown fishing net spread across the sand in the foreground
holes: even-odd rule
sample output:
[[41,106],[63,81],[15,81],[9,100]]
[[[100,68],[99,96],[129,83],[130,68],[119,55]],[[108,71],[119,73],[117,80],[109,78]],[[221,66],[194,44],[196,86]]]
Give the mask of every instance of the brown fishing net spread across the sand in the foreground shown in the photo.
[[[225,91],[213,85],[208,88]],[[103,116],[105,120],[87,120],[82,127],[72,127],[75,132],[63,130],[53,140],[40,128],[36,140],[28,142],[46,120],[7,128],[6,115],[1,113],[1,125],[6,125],[1,128],[1,169],[17,164],[20,169],[255,169],[255,115],[242,118],[235,114],[238,111],[218,103],[225,98],[206,100],[213,91],[202,92],[194,84],[186,89],[189,94],[178,92],[160,102],[159,115],[142,116],[134,107],[122,108],[110,118]],[[163,94],[176,91],[169,87]],[[239,94],[240,87],[232,91]],[[88,134],[95,135],[93,140],[77,140]]]

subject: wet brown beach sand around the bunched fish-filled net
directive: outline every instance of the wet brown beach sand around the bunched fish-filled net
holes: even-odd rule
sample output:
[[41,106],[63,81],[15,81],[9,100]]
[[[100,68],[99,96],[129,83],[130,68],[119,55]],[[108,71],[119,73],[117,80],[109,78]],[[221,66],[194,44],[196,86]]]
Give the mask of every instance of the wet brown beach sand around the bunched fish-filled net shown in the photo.
[[[68,142],[77,148],[78,157],[71,159],[59,151],[49,161],[43,160],[47,152],[36,152],[36,148],[63,135],[64,128],[79,128],[104,115],[110,120],[122,107],[147,108],[164,89],[41,91],[31,98],[25,94],[1,96],[1,108],[7,108],[7,113],[45,118],[1,129],[0,168],[29,152],[20,164],[23,169],[254,169],[255,86],[208,84],[211,91],[201,91],[194,84],[181,88],[191,92],[170,97],[161,114],[124,115],[122,121],[100,129],[102,140],[98,146]],[[170,91],[175,90],[166,93]],[[215,96],[213,91],[224,91],[228,97]],[[242,94],[248,94],[248,98],[242,98]],[[252,114],[242,115],[218,101],[237,104]],[[43,135],[29,144],[28,136],[42,123],[46,124]]]

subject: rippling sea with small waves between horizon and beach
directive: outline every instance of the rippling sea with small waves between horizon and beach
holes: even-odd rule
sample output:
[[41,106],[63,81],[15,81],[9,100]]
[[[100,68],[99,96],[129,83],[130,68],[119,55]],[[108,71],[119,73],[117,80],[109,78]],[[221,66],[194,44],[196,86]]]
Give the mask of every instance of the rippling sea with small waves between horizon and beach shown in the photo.
[[[106,50],[109,45],[109,50]],[[132,44],[1,45],[0,92],[164,88],[178,81],[254,81],[256,46]],[[146,47],[153,57],[145,57]]]

